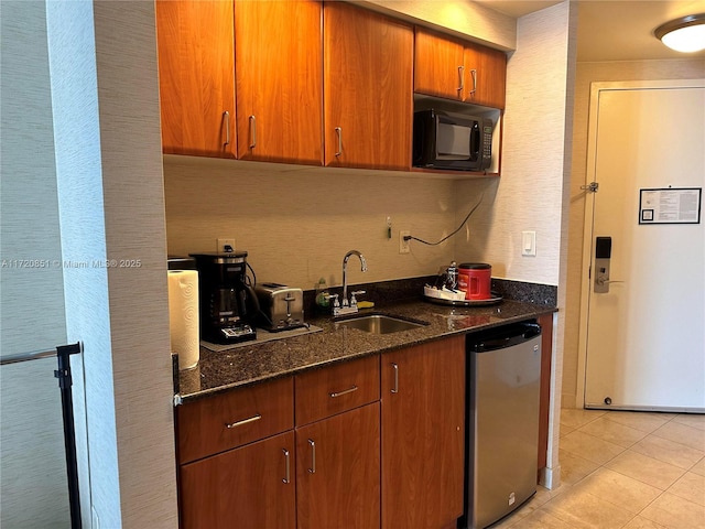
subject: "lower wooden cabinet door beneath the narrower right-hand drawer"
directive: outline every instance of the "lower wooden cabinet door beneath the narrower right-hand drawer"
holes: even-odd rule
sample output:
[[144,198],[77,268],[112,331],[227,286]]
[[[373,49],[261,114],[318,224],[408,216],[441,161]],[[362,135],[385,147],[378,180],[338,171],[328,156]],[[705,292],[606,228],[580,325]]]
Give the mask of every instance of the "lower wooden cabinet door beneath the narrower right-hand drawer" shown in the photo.
[[299,529],[379,527],[379,402],[296,429]]

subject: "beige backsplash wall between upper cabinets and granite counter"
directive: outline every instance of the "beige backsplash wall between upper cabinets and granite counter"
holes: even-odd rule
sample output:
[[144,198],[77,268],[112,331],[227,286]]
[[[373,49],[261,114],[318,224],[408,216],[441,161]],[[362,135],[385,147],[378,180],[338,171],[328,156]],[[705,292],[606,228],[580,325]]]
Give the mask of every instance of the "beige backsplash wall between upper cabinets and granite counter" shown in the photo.
[[218,237],[234,236],[258,282],[308,290],[324,277],[339,285],[350,249],[369,269],[362,274],[352,263],[350,284],[435,273],[454,259],[454,239],[437,247],[412,241],[410,253],[399,253],[400,229],[430,241],[455,229],[451,180],[164,156],[164,183],[169,253],[215,251]]

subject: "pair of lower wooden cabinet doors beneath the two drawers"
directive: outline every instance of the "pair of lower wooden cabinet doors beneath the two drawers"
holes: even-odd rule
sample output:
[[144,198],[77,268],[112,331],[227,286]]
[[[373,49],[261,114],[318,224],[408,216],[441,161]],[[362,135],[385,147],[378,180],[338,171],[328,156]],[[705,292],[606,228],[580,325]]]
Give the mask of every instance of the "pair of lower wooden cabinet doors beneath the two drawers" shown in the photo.
[[380,403],[181,466],[182,529],[376,529]]

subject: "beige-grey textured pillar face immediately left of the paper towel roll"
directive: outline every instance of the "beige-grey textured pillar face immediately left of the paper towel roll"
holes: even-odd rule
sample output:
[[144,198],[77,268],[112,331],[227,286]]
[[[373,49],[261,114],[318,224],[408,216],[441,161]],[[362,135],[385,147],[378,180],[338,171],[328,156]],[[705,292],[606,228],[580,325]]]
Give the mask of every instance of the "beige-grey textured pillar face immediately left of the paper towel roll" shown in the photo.
[[94,12],[121,527],[176,527],[154,3]]

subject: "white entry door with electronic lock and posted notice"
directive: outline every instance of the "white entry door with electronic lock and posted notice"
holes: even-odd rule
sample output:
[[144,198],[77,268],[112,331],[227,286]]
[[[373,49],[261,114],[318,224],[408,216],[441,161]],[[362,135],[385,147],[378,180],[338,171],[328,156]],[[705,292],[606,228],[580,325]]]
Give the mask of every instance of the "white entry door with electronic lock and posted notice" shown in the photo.
[[705,83],[594,84],[589,134],[585,407],[705,411]]

